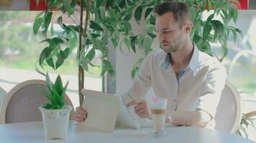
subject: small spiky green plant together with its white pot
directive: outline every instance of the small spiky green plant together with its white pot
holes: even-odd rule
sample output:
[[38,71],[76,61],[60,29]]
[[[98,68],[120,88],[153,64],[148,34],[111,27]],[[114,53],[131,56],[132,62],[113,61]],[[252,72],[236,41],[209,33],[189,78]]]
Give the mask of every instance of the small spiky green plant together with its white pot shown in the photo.
[[50,81],[48,74],[45,77],[48,90],[42,89],[42,93],[49,99],[49,103],[39,107],[42,112],[45,137],[46,139],[65,139],[72,110],[70,105],[65,104],[65,90],[68,87],[68,82],[63,87],[60,75],[54,84]]

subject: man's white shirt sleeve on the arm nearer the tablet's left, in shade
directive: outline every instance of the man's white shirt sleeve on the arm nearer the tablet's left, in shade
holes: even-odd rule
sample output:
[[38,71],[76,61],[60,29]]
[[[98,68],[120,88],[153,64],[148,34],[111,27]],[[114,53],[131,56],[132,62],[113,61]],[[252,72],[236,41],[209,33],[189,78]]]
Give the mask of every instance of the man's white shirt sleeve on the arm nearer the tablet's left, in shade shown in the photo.
[[126,93],[122,94],[122,102],[127,104],[133,99],[144,99],[145,94],[151,87],[150,68],[152,67],[152,53],[148,54],[140,70],[137,72],[133,79],[132,87],[130,87]]

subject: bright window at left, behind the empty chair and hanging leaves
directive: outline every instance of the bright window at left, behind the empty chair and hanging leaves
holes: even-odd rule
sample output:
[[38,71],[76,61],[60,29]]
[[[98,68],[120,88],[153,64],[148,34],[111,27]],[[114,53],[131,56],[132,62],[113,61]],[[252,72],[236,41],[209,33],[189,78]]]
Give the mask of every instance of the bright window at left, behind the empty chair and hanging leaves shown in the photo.
[[[35,71],[40,53],[47,46],[46,43],[39,44],[43,37],[40,34],[35,36],[32,32],[32,24],[38,13],[37,11],[0,11],[0,87],[7,92],[20,82],[29,79],[45,80],[45,77]],[[58,13],[60,12],[55,12]],[[54,24],[53,27],[57,34],[60,29],[58,24]],[[79,105],[76,51],[77,49],[73,49],[70,57],[57,71],[45,67],[52,80],[58,73],[61,74],[63,82],[69,81],[67,94],[74,107]],[[100,62],[98,57],[93,60],[96,63]],[[89,70],[91,73],[85,73],[85,88],[102,91],[102,79],[99,77],[101,69],[90,66]]]

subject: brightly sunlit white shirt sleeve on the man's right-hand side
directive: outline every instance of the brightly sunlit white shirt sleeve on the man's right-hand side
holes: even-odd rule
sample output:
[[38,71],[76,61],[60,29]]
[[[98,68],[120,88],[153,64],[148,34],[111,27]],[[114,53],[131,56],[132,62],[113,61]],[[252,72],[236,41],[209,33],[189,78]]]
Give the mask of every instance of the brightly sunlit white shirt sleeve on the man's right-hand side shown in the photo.
[[196,107],[196,110],[207,112],[211,116],[211,119],[216,114],[221,92],[224,89],[227,79],[226,69],[222,64],[215,63],[213,66],[208,74],[206,74],[206,79],[199,96],[198,106]]

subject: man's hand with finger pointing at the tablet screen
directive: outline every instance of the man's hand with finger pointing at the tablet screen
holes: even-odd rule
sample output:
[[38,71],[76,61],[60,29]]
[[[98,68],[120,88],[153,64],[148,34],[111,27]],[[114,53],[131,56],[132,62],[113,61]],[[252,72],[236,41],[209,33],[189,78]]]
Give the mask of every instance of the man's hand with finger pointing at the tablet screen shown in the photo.
[[134,112],[140,118],[151,119],[150,106],[145,100],[132,100],[127,104],[127,107],[131,107],[132,105],[136,105],[134,107]]

